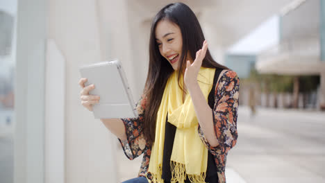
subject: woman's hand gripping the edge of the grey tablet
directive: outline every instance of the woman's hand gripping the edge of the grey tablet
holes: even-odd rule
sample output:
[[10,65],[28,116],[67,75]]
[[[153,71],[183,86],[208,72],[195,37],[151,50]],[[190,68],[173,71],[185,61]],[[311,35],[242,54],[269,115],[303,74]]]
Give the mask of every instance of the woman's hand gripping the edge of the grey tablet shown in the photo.
[[94,89],[94,85],[89,85],[88,87],[85,87],[86,81],[87,78],[81,78],[79,80],[79,85],[82,88],[80,92],[81,105],[83,105],[83,107],[86,107],[88,110],[92,111],[92,105],[94,105],[95,103],[99,103],[99,96],[89,94],[90,90]]

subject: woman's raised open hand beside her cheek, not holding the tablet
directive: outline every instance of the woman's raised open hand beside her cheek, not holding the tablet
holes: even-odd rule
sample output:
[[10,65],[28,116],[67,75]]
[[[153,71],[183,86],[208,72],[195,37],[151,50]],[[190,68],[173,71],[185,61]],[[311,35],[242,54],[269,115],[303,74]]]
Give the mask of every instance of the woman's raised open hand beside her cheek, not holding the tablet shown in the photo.
[[197,75],[200,71],[203,58],[206,57],[206,51],[208,49],[208,43],[206,40],[203,42],[202,49],[197,51],[194,62],[191,64],[190,60],[186,62],[186,69],[184,73],[184,82],[187,88],[197,84]]

